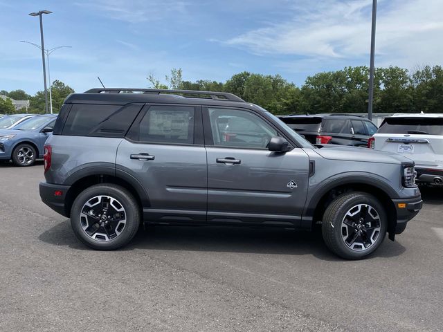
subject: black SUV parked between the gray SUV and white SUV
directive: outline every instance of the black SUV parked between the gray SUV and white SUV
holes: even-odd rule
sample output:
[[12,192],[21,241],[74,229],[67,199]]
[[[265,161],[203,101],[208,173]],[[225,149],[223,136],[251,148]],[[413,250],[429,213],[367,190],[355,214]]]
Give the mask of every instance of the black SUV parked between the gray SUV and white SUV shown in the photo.
[[367,147],[369,138],[377,131],[375,124],[361,116],[316,114],[279,118],[312,144]]

